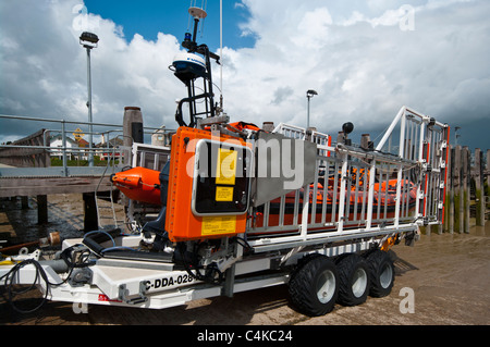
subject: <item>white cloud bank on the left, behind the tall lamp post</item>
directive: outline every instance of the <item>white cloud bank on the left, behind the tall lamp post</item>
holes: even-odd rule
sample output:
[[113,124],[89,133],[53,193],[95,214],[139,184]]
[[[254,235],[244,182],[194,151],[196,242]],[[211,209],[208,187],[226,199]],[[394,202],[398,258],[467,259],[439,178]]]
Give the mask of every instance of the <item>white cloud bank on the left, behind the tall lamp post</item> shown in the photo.
[[[124,107],[139,106],[146,125],[174,126],[174,100],[184,91],[168,70],[180,50],[174,36],[127,42],[120,25],[78,0],[9,1],[1,11],[0,113],[86,122],[87,58],[78,37],[89,30],[100,39],[91,51],[94,122],[121,124]],[[26,132],[0,122],[2,133]]]

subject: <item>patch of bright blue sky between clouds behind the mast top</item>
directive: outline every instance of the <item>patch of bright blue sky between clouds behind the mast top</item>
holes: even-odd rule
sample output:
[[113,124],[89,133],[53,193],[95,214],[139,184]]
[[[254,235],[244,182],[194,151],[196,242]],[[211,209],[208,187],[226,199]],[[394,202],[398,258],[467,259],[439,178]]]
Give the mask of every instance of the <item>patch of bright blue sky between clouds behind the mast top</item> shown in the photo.
[[[197,0],[201,8],[203,1]],[[238,3],[238,5],[236,4]],[[255,39],[243,36],[240,23],[246,21],[249,13],[240,1],[223,0],[223,46],[234,49],[253,47]],[[135,34],[142,35],[146,40],[156,40],[158,33],[171,34],[183,39],[187,30],[189,0],[85,0],[89,13],[99,14],[102,18],[112,20],[123,26],[126,40]],[[220,1],[207,0],[206,11],[208,17],[204,21],[201,44],[207,44],[211,50],[218,51],[220,46]],[[193,29],[191,24],[189,30]]]

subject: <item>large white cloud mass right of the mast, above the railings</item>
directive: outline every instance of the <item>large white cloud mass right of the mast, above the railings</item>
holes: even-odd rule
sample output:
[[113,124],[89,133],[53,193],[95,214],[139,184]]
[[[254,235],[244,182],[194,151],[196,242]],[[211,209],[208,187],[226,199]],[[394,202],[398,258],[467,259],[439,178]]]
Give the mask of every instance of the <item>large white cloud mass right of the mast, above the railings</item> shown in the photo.
[[[244,29],[259,39],[255,49],[229,57],[242,72],[225,74],[228,104],[237,114],[304,125],[305,92],[314,88],[311,123],[331,134],[345,121],[367,129],[387,125],[403,104],[460,121],[454,98],[474,110],[468,119],[490,116],[481,107],[487,100],[461,87],[465,80],[464,90],[490,92],[489,62],[482,61],[490,57],[488,2],[376,1],[351,7],[351,15],[324,1],[244,3],[253,15]],[[403,30],[412,9],[415,27]],[[290,102],[270,102],[278,86],[294,90]]]

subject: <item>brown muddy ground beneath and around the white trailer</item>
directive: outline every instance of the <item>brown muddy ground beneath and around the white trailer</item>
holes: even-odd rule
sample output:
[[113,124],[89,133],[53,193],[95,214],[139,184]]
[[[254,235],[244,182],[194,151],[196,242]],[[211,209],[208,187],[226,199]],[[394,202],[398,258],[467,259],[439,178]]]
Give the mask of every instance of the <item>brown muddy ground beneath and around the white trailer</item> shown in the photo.
[[[34,206],[16,211],[2,206],[0,232],[13,228],[25,240],[58,230],[62,237],[83,235],[83,206],[72,195],[48,199],[48,225],[36,225]],[[81,199],[79,199],[81,200]],[[5,201],[1,201],[4,203]],[[34,203],[34,201],[33,201]],[[10,208],[11,211],[7,209]],[[34,212],[33,212],[34,210]],[[119,210],[121,213],[122,210]],[[20,222],[12,223],[15,213]],[[23,214],[24,213],[24,214]],[[30,213],[30,216],[29,216]],[[32,215],[34,214],[34,216]],[[10,215],[10,216],[9,216]],[[7,220],[5,220],[7,219]],[[10,224],[9,224],[10,223]],[[10,226],[9,226],[10,225]],[[24,236],[19,230],[25,231]],[[21,236],[20,236],[21,234]],[[469,234],[421,235],[415,247],[399,245],[391,251],[396,277],[384,298],[368,298],[357,307],[336,305],[319,318],[296,312],[287,288],[278,286],[189,302],[166,310],[89,306],[75,313],[71,303],[47,302],[39,311],[20,315],[0,296],[2,325],[488,325],[490,324],[490,223],[473,226]],[[408,289],[407,289],[408,288]],[[406,299],[413,293],[413,313]],[[3,293],[4,294],[4,293]],[[405,312],[404,312],[405,311]]]

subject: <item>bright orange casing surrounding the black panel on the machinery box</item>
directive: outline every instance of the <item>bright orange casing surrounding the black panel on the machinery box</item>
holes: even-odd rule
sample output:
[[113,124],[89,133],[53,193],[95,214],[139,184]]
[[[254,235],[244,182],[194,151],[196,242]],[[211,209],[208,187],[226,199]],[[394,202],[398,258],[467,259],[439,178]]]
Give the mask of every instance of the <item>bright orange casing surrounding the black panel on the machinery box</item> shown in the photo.
[[[226,213],[195,215],[193,213],[195,154],[200,139],[231,141],[235,146],[247,146],[245,141],[226,135],[212,136],[211,132],[189,127],[177,129],[172,137],[166,219],[166,231],[172,241],[221,238],[245,232],[246,213],[240,215]],[[221,188],[220,194],[224,191],[224,196],[226,196],[226,189],[232,188],[233,186]],[[217,198],[217,201],[220,199]]]

